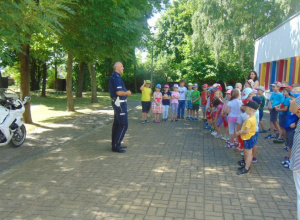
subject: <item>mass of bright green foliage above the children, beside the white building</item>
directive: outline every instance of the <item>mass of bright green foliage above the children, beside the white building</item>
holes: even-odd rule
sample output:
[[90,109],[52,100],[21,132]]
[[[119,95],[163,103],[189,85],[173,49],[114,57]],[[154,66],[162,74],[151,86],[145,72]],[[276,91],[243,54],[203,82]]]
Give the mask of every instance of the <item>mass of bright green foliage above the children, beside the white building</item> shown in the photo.
[[174,1],[157,22],[156,62],[177,80],[244,81],[255,40],[299,9],[297,0]]

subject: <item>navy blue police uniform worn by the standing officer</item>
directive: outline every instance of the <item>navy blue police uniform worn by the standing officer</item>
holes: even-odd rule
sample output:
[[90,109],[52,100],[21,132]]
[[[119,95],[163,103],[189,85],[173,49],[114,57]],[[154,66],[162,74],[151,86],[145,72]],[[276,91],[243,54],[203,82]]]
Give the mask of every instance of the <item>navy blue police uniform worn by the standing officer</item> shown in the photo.
[[128,129],[128,114],[127,114],[127,96],[119,96],[120,106],[115,105],[115,100],[118,98],[117,92],[126,92],[126,87],[121,75],[114,72],[109,79],[109,92],[112,98],[112,107],[114,109],[114,123],[112,127],[112,150],[118,150],[121,147],[121,142],[124,139]]

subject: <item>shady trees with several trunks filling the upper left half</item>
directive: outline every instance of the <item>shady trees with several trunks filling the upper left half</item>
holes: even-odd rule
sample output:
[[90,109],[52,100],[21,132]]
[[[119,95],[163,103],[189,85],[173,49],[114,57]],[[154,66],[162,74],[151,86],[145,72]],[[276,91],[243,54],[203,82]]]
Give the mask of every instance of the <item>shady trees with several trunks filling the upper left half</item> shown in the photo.
[[[21,90],[28,95],[31,83],[39,88],[43,69],[45,96],[47,68],[55,66],[57,55],[68,54],[68,110],[74,110],[73,63],[86,63],[91,75],[92,102],[97,101],[95,64],[106,59],[130,60],[132,51],[149,34],[147,19],[167,0],[4,0],[0,2],[1,65],[20,65]],[[59,52],[57,52],[59,51]],[[42,64],[40,64],[42,63]],[[30,75],[30,65],[33,71]],[[79,65],[80,66],[80,65]],[[76,71],[75,71],[76,72]],[[81,72],[82,73],[82,72]],[[78,83],[83,83],[82,77]],[[54,80],[55,82],[55,80]],[[33,86],[35,85],[35,86]],[[78,86],[75,88],[82,88]],[[79,95],[80,96],[80,95]],[[32,122],[30,107],[25,121]],[[28,117],[27,117],[28,116]]]

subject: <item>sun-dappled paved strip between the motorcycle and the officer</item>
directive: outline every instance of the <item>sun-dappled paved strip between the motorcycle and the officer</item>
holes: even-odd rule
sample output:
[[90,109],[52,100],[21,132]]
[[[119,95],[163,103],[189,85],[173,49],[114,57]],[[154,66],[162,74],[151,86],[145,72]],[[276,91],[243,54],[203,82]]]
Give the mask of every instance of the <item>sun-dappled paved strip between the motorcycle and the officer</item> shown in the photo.
[[[137,101],[131,101],[128,108],[131,110],[138,104]],[[21,148],[14,149],[9,145],[0,147],[0,173],[62,144],[73,142],[82,135],[111,123],[112,120],[112,107],[105,107],[61,123],[38,125],[37,129],[27,135]]]

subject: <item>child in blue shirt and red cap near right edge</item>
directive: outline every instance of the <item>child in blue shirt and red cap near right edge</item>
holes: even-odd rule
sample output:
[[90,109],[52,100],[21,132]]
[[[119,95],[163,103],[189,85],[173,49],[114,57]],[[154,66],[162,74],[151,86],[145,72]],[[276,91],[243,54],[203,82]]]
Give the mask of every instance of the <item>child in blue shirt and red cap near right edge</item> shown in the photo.
[[274,143],[284,143],[285,139],[285,120],[286,116],[288,115],[289,112],[289,107],[290,107],[290,96],[289,93],[291,92],[292,87],[287,86],[282,89],[282,94],[284,96],[284,99],[282,103],[279,106],[276,106],[276,110],[279,112],[279,126],[280,126],[280,131],[279,131],[279,137],[277,140],[274,140]]

